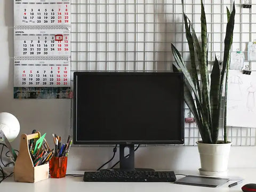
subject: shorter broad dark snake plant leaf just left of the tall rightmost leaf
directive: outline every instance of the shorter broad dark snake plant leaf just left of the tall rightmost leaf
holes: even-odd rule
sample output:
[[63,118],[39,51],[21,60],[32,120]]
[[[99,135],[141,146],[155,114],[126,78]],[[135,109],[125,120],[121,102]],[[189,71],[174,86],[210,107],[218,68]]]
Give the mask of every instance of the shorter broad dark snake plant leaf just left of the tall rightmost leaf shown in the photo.
[[212,73],[211,73],[211,110],[212,110],[212,142],[217,143],[219,122],[220,122],[220,66],[219,61],[215,56],[215,61],[213,63]]

